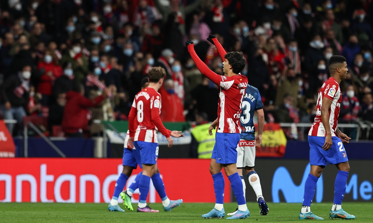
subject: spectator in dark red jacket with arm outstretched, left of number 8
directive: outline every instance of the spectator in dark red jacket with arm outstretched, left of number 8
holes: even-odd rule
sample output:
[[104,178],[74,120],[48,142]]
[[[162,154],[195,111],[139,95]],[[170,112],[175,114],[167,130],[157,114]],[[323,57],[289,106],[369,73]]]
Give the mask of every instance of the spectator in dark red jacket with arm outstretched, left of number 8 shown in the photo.
[[73,90],[66,94],[66,105],[63,110],[62,129],[69,137],[84,137],[83,131],[88,130],[88,108],[95,107],[107,97],[104,90],[101,96],[94,99],[84,97],[82,84],[75,84]]

